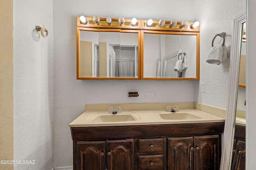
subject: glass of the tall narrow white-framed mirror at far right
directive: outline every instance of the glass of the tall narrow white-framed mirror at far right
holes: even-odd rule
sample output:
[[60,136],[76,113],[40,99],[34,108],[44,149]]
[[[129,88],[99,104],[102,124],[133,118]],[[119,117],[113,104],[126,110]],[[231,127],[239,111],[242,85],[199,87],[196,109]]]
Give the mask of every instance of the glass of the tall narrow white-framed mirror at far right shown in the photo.
[[[242,23],[242,35],[246,29],[246,23]],[[239,64],[239,76],[238,76],[238,92],[236,100],[236,119],[235,119],[235,131],[234,131],[234,143],[232,152],[231,170],[245,170],[245,126],[246,126],[246,37],[241,36],[240,39],[240,64]]]

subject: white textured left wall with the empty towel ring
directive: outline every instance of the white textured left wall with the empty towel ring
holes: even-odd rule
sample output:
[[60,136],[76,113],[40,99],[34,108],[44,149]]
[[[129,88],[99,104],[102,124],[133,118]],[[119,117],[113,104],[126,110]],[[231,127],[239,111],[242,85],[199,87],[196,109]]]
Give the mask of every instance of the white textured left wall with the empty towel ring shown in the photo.
[[[14,164],[15,170],[53,168],[52,0],[14,0]],[[49,37],[35,31],[44,24]]]

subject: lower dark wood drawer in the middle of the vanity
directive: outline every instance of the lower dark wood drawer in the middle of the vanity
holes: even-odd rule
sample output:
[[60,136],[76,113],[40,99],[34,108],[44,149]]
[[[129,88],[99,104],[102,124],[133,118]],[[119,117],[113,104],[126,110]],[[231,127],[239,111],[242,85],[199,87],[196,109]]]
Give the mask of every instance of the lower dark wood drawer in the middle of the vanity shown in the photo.
[[162,170],[164,168],[164,155],[139,156],[140,170]]

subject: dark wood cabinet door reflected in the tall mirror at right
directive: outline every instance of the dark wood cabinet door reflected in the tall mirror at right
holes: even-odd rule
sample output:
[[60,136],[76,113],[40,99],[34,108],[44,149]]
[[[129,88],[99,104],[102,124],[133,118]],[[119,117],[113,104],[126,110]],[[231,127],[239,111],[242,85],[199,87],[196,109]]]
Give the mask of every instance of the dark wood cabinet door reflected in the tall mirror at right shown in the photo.
[[237,141],[233,155],[231,170],[245,170],[245,141]]

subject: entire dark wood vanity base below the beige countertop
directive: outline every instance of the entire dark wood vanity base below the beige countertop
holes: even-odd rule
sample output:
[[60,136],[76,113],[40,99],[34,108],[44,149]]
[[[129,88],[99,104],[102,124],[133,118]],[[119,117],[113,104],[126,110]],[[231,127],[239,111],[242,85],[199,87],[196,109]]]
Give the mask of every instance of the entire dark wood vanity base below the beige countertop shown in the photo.
[[71,127],[74,170],[217,170],[224,122]]

